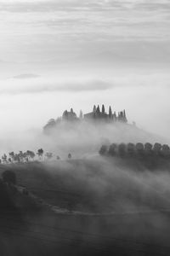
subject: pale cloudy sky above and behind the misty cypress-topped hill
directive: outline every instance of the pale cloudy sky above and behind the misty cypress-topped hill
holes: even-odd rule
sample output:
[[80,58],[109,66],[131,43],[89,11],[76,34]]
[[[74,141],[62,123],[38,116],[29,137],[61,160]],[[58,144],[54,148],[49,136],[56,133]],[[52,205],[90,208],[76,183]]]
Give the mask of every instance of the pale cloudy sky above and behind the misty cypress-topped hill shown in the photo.
[[0,137],[67,108],[170,138],[169,0],[0,0]]

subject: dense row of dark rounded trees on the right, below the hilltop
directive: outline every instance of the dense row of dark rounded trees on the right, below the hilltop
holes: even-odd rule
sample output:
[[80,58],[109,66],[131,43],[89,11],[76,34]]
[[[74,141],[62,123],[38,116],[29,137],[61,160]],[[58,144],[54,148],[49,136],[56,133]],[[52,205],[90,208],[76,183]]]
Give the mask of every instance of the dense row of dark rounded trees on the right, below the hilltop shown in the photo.
[[112,143],[110,146],[102,145],[99,149],[100,155],[108,156],[156,156],[170,159],[170,148],[161,143]]

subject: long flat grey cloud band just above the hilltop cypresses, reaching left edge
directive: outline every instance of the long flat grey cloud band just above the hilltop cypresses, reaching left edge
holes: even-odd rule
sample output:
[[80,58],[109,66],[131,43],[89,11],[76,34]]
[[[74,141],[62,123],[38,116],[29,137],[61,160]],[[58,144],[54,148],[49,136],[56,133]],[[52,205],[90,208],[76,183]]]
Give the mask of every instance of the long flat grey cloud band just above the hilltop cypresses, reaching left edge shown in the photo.
[[[23,81],[20,80],[25,80]],[[31,82],[30,82],[31,79]],[[3,85],[0,87],[1,94],[20,95],[20,94],[35,94],[44,92],[79,92],[79,91],[95,91],[111,89],[112,84],[109,81],[102,80],[87,80],[78,81],[59,81],[57,79],[44,79],[35,75],[21,74],[15,76],[14,79],[3,80]]]

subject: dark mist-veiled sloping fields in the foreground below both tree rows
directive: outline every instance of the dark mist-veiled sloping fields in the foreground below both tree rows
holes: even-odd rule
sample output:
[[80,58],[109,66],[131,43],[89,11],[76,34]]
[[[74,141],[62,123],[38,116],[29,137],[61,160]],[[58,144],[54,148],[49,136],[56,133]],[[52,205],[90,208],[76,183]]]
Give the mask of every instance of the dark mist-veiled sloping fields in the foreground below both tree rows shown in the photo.
[[17,192],[5,190],[1,255],[169,255],[167,160],[152,169],[109,157],[0,166],[7,169]]

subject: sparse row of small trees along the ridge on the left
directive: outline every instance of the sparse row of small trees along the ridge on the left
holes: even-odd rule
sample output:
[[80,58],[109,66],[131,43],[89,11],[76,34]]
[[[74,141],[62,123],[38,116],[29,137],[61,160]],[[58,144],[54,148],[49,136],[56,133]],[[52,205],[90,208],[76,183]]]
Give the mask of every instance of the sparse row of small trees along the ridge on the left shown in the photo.
[[[37,153],[34,153],[31,150],[27,150],[26,152],[20,151],[18,154],[14,153],[14,151],[9,152],[8,154],[3,154],[0,159],[0,164],[10,164],[10,163],[24,163],[29,161],[38,160],[51,160],[54,158],[54,154],[52,152],[44,153],[42,148],[37,149]],[[60,160],[59,155],[56,156],[57,160]],[[71,153],[68,154],[68,159],[71,159]]]

